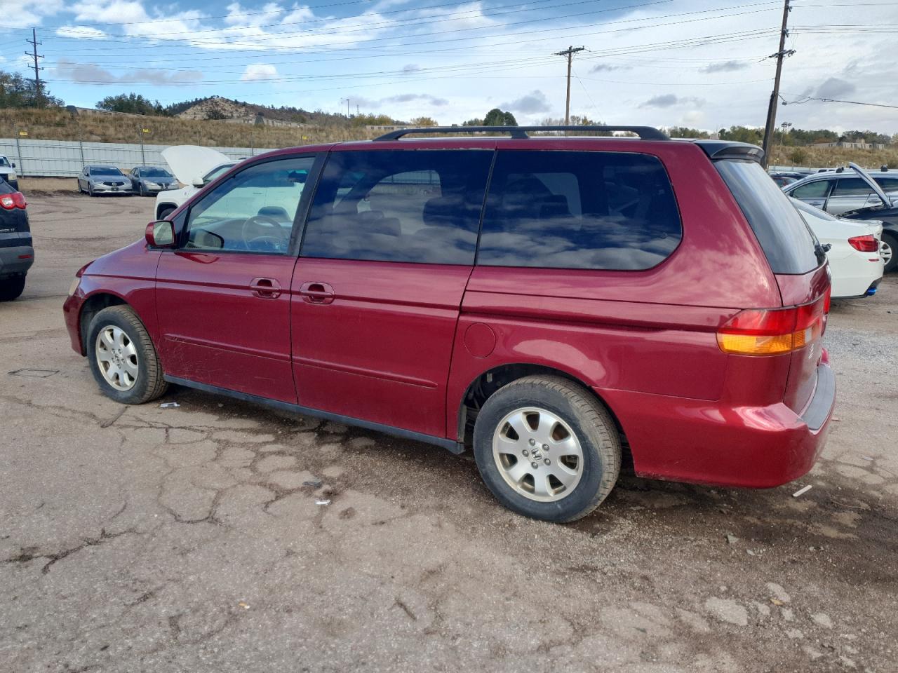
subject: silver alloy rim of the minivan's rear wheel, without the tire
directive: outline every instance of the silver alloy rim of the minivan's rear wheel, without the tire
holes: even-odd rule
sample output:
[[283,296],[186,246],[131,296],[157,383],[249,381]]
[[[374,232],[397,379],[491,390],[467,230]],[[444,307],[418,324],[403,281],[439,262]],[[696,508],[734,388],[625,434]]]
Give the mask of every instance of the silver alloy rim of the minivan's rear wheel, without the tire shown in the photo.
[[517,494],[551,503],[571,494],[583,476],[583,449],[559,415],[539,407],[507,414],[493,433],[493,459]]

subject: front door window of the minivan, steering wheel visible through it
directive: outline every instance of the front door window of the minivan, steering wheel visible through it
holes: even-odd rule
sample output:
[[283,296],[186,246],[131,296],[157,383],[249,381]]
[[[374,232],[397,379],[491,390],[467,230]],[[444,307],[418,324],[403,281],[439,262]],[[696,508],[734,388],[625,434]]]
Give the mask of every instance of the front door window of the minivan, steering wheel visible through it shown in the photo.
[[191,206],[184,249],[286,254],[314,157],[251,166]]

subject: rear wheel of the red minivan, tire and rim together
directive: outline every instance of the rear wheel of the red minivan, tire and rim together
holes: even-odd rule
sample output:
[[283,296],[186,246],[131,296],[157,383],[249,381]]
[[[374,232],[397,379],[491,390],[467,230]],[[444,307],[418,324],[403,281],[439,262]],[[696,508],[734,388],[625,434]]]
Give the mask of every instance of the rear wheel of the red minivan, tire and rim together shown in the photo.
[[621,472],[621,438],[588,390],[557,376],[498,389],[474,424],[480,476],[508,509],[563,523],[585,517]]

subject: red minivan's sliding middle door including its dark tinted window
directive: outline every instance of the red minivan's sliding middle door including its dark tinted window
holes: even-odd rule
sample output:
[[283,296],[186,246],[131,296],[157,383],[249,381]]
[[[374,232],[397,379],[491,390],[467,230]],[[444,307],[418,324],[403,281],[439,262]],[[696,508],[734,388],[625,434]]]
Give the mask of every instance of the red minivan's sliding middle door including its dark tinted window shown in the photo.
[[330,153],[292,286],[301,406],[445,437],[492,154]]

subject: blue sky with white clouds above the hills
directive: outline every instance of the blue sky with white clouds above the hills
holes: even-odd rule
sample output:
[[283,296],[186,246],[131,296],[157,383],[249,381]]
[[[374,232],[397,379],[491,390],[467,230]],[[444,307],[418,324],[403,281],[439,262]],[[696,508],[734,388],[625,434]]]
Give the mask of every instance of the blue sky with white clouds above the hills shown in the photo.
[[[779,121],[898,133],[898,0],[792,0]],[[761,126],[782,0],[19,0],[0,68],[42,75],[67,103],[140,92],[304,109],[422,115],[442,124],[511,109],[616,124]],[[20,44],[21,43],[21,44]]]

